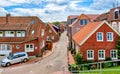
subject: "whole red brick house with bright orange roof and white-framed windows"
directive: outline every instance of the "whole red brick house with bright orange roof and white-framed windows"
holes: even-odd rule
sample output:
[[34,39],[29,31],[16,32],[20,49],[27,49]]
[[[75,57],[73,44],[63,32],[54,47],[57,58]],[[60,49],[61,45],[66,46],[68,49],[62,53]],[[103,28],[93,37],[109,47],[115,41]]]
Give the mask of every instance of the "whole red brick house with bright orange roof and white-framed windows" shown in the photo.
[[90,22],[72,38],[76,52],[81,52],[84,60],[117,59],[116,42],[119,33],[106,21]]

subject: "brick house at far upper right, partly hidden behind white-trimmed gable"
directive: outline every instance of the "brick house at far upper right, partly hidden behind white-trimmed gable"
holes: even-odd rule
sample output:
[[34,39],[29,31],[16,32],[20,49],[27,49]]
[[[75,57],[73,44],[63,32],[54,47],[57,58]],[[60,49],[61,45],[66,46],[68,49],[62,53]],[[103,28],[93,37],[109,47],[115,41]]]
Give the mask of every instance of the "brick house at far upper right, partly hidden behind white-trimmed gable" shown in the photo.
[[120,33],[120,7],[110,9],[108,12],[99,15],[96,20],[108,21],[111,23],[112,27]]

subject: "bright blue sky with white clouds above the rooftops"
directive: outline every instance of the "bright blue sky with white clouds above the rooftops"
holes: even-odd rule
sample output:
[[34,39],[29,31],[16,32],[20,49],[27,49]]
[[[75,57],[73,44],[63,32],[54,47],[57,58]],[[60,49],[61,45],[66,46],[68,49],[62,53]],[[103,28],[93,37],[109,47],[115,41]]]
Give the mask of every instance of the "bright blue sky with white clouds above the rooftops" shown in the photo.
[[101,14],[120,0],[0,0],[0,16],[38,16],[43,22],[66,21],[69,15]]

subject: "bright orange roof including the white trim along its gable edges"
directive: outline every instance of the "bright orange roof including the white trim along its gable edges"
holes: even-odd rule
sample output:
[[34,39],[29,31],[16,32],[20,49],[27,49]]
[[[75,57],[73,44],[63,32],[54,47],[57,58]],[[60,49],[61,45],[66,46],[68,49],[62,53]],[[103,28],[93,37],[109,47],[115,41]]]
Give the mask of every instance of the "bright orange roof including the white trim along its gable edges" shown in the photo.
[[100,28],[104,23],[108,25],[116,34],[119,35],[119,33],[111,27],[111,25],[106,21],[100,21],[100,22],[89,22],[85,27],[80,29],[77,33],[75,33],[72,38],[73,40],[79,44],[82,45],[98,28]]

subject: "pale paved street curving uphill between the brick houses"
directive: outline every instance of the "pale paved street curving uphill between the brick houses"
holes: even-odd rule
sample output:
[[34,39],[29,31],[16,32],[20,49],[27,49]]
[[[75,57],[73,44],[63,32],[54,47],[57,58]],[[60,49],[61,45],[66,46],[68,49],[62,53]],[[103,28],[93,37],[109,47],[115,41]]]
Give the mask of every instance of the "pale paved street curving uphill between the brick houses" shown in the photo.
[[66,33],[61,35],[60,40],[53,47],[52,55],[36,63],[5,68],[2,74],[51,74],[57,71],[66,71],[68,67]]

